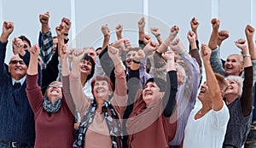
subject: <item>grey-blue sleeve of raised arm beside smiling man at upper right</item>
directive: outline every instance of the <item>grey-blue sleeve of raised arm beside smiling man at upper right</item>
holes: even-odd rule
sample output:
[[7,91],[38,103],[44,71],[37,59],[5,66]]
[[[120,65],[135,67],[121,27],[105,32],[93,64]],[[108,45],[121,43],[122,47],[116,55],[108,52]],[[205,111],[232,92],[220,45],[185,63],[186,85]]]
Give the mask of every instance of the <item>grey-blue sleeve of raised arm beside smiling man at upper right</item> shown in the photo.
[[220,59],[219,48],[216,48],[216,49],[212,50],[212,55],[211,55],[211,58],[210,58],[210,62],[211,62],[211,65],[212,65],[212,70],[215,73],[219,73],[219,74],[221,74],[222,76],[225,77],[226,74],[225,74],[225,71],[224,71],[222,61]]

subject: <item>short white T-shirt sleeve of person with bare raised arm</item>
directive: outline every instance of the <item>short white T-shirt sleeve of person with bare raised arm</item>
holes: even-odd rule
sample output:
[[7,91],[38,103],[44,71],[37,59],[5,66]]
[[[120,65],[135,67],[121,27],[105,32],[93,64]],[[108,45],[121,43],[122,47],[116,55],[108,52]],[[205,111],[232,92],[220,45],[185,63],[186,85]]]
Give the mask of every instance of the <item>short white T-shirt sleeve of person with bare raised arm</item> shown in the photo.
[[230,120],[230,111],[224,102],[224,105],[219,111],[212,111],[212,123],[216,128],[224,128]]

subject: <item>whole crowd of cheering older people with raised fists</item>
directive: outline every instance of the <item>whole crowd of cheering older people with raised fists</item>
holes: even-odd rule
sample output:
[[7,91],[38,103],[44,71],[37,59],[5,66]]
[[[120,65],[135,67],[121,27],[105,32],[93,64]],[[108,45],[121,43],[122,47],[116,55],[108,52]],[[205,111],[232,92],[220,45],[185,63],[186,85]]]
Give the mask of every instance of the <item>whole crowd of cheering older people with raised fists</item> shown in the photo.
[[[241,54],[219,55],[228,31],[213,18],[209,43],[199,46],[199,21],[190,20],[189,51],[171,26],[166,39],[138,26],[138,47],[116,29],[109,43],[102,25],[100,48],[68,48],[67,18],[49,27],[39,14],[38,44],[25,36],[12,40],[14,23],[3,22],[0,36],[0,148],[241,148],[253,120],[256,51],[253,26],[238,39]],[[156,40],[156,41],[154,41]],[[202,66],[204,65],[204,66]],[[205,69],[206,82],[202,80]],[[198,99],[198,100],[197,100]],[[200,101],[201,105],[195,105]],[[198,102],[197,102],[198,103]]]

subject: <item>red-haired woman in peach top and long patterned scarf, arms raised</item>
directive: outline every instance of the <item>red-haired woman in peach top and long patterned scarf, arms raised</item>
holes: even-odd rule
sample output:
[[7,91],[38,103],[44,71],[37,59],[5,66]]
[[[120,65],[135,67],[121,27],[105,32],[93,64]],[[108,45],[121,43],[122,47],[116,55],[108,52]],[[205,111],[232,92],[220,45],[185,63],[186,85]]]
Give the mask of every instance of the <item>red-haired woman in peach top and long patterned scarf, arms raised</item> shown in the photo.
[[62,48],[63,85],[69,88],[67,92],[70,90],[76,109],[81,115],[79,135],[73,147],[120,148],[121,141],[119,136],[122,133],[119,119],[125,111],[127,88],[125,71],[119,60],[119,49],[108,47],[108,54],[115,66],[115,90],[113,92],[113,86],[108,77],[96,76],[91,83],[94,100],[90,100],[83,93],[79,79],[79,62],[83,56],[83,50],[75,49],[73,51],[71,74],[67,64],[68,52],[67,48]]

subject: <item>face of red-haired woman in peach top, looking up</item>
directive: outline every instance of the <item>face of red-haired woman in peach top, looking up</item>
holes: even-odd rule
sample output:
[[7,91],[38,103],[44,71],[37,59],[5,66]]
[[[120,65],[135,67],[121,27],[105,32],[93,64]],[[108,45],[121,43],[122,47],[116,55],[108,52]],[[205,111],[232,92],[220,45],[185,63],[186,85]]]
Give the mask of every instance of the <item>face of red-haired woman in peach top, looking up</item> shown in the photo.
[[93,87],[93,94],[96,101],[108,100],[108,96],[112,94],[107,81],[96,81]]

